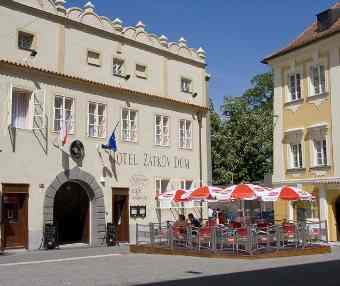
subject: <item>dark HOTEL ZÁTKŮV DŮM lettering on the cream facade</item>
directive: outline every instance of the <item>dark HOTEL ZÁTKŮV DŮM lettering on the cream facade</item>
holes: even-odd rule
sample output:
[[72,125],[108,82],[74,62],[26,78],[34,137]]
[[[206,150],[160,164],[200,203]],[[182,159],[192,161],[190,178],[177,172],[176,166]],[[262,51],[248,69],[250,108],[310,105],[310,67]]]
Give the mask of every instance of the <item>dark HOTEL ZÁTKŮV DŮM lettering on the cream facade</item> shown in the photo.
[[154,153],[144,153],[143,158],[138,158],[135,153],[116,152],[115,163],[118,166],[139,166],[142,164],[145,168],[175,168],[190,169],[190,160],[178,157],[159,155]]

